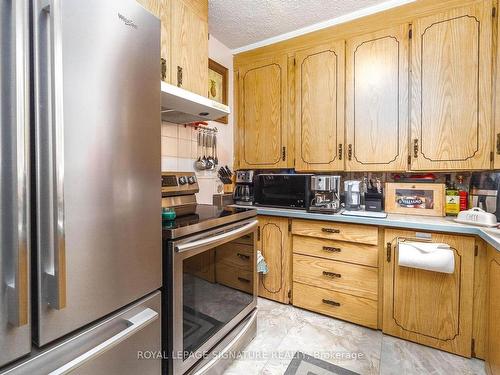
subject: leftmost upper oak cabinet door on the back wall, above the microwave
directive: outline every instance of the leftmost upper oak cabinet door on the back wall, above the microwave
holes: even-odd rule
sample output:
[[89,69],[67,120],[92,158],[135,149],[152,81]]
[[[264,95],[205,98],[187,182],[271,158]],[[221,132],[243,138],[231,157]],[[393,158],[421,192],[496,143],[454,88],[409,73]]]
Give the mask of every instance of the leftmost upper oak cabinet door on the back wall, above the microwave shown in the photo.
[[240,168],[287,167],[287,57],[239,69]]

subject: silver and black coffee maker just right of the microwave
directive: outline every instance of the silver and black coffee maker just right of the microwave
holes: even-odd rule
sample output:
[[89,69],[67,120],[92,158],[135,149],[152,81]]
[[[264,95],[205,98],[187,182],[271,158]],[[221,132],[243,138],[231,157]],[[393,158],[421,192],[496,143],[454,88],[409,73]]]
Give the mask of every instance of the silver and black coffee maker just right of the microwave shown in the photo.
[[340,176],[311,176],[310,212],[334,214],[340,210]]

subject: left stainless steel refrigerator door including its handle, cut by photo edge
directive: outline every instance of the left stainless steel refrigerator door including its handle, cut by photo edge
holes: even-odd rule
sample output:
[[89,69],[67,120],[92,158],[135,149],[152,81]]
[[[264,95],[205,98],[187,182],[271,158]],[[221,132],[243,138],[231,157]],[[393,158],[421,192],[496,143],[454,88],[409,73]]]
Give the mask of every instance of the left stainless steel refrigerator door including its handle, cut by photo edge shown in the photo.
[[0,367],[31,350],[28,1],[0,1]]

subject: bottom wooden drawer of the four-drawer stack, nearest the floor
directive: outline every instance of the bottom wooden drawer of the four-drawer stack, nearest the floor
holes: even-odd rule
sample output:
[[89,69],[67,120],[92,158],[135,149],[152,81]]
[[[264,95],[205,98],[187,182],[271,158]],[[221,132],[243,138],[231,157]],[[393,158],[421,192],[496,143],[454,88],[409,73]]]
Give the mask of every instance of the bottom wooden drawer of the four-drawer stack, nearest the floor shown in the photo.
[[377,302],[370,299],[293,283],[293,304],[320,314],[377,328]]

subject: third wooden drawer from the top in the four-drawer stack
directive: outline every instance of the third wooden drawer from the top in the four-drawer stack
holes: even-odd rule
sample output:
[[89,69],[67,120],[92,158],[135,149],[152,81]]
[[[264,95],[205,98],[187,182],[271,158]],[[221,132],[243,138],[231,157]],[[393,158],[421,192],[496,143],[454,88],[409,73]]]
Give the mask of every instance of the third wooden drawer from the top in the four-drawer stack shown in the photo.
[[293,281],[377,300],[378,269],[293,255]]

